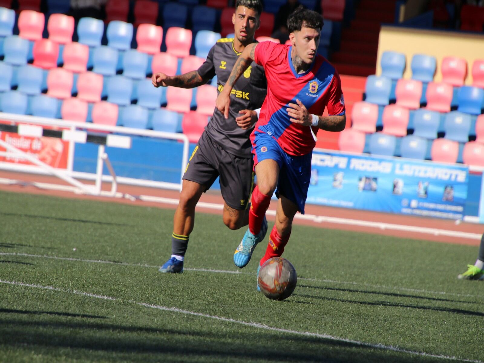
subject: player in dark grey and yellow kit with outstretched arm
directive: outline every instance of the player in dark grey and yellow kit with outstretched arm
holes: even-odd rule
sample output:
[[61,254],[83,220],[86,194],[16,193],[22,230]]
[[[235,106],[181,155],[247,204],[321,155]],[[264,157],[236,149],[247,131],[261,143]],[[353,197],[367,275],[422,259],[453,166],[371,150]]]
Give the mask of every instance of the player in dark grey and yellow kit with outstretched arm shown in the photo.
[[[217,91],[223,90],[230,71],[242,50],[254,43],[262,12],[260,0],[237,0],[232,22],[235,38],[220,39],[210,50],[207,60],[198,68],[181,76],[156,73],[153,86],[194,88],[217,76]],[[223,220],[230,229],[247,226],[249,197],[254,184],[251,143],[249,136],[257,121],[257,112],[267,94],[263,67],[251,66],[234,85],[228,119],[214,108],[213,116],[198,140],[183,175],[180,202],[173,219],[172,255],[160,267],[160,272],[183,272],[183,260],[195,221],[195,206],[203,192],[220,176],[224,198]],[[265,221],[260,232],[262,240],[267,231]]]

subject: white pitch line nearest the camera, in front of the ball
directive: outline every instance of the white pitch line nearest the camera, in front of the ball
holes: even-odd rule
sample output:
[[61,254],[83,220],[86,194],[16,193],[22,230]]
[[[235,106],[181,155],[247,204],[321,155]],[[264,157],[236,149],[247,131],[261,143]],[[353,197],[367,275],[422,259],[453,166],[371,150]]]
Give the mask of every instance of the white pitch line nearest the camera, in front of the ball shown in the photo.
[[[89,292],[81,292],[81,291],[77,291],[77,290],[62,289],[62,288],[59,288],[59,287],[52,287],[52,286],[26,284],[26,283],[18,282],[18,281],[0,280],[0,283],[15,285],[15,286],[22,286],[22,287],[41,288],[41,289],[45,289],[45,290],[64,292],[64,293],[87,296],[87,297],[109,300],[109,301],[120,301],[121,300],[119,298],[105,296],[105,295],[97,295],[97,294],[92,294],[92,293],[89,293]],[[406,354],[423,356],[423,357],[445,359],[445,360],[448,360],[448,361],[458,361],[458,362],[468,362],[468,363],[484,363],[484,362],[478,361],[478,360],[463,359],[463,358],[450,357],[450,356],[438,355],[438,354],[429,354],[429,353],[425,353],[425,352],[402,349],[402,348],[393,347],[393,346],[386,346],[386,345],[383,345],[383,344],[365,343],[365,342],[361,342],[361,341],[358,341],[358,340],[340,338],[340,337],[336,337],[336,336],[329,335],[329,334],[300,332],[300,331],[297,331],[297,330],[275,328],[275,327],[271,327],[271,326],[260,324],[260,323],[254,323],[252,321],[248,322],[248,321],[242,321],[242,320],[235,320],[235,319],[232,319],[232,318],[218,317],[216,315],[208,315],[208,314],[203,314],[203,313],[197,313],[195,311],[182,310],[182,309],[179,309],[179,308],[176,308],[176,307],[166,307],[166,306],[161,306],[161,305],[153,305],[153,304],[149,304],[149,303],[146,303],[146,302],[136,302],[136,301],[133,301],[133,300],[130,300],[129,302],[134,303],[136,305],[149,307],[149,308],[152,308],[152,309],[169,311],[169,312],[173,312],[173,313],[181,313],[181,314],[185,314],[185,315],[192,315],[192,316],[197,316],[197,317],[202,317],[202,318],[215,319],[215,320],[225,321],[225,322],[229,322],[229,323],[235,323],[235,324],[250,326],[250,327],[253,327],[253,328],[257,328],[257,329],[269,330],[269,331],[272,331],[272,332],[310,336],[310,337],[315,337],[315,338],[320,338],[320,339],[332,340],[332,341],[336,341],[336,342],[350,343],[350,344],[354,344],[354,345],[360,346],[360,347],[389,350],[389,351],[394,351],[394,352],[398,352],[398,353],[406,353]]]

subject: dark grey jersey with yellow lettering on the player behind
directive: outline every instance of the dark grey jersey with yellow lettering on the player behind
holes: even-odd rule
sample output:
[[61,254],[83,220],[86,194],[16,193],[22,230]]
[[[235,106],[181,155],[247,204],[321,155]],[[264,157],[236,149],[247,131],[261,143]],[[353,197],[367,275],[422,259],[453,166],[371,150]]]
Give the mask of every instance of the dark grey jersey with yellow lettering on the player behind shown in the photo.
[[[216,75],[217,93],[220,93],[239,55],[233,47],[233,38],[222,38],[212,46],[207,60],[197,72],[205,79]],[[241,115],[240,110],[260,108],[266,95],[267,81],[264,68],[252,62],[231,91],[228,119],[215,107],[205,131],[227,152],[239,157],[252,157],[249,136],[254,128],[242,130],[235,118]]]

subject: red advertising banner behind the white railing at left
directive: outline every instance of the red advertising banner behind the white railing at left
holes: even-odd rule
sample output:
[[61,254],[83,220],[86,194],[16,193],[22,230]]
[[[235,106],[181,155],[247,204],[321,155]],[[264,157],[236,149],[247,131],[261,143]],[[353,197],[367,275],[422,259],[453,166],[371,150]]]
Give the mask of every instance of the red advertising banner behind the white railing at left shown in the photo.
[[[69,153],[68,141],[54,137],[20,136],[10,132],[1,132],[0,139],[17,149],[32,155],[37,155],[40,161],[49,166],[61,169],[67,168],[67,156]],[[0,147],[0,151],[5,151],[5,148]],[[34,165],[21,156],[0,156],[0,162]]]

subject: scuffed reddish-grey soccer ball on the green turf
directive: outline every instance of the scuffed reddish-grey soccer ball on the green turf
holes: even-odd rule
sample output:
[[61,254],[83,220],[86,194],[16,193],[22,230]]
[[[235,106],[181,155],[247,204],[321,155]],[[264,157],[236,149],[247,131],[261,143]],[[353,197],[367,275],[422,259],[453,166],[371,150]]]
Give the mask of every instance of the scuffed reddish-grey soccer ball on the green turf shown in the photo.
[[294,266],[282,257],[268,259],[258,275],[260,291],[272,300],[288,298],[296,288],[297,279]]

